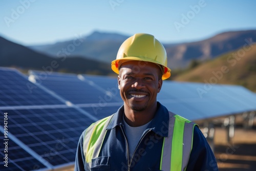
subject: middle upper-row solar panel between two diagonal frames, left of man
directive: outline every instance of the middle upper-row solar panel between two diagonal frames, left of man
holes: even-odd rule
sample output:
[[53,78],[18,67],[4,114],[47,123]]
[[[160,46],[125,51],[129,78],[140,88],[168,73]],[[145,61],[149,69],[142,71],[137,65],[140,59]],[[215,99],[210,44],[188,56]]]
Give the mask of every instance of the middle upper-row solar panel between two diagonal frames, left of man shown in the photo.
[[41,83],[42,86],[74,104],[119,101],[111,92],[102,89],[92,81],[86,81],[82,78],[79,79],[74,74],[52,73],[45,79],[40,79],[40,72],[31,71],[30,76],[34,76],[34,79]]

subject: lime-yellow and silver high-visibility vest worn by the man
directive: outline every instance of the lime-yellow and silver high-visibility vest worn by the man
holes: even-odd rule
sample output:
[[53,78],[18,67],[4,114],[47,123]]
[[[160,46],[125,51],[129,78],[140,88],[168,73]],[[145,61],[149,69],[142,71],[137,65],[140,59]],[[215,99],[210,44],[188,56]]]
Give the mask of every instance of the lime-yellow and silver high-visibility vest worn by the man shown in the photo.
[[[88,127],[83,140],[83,154],[91,167],[93,158],[99,156],[106,135],[106,127],[113,115],[101,119]],[[186,170],[193,147],[194,122],[169,112],[168,137],[164,137],[160,170]]]

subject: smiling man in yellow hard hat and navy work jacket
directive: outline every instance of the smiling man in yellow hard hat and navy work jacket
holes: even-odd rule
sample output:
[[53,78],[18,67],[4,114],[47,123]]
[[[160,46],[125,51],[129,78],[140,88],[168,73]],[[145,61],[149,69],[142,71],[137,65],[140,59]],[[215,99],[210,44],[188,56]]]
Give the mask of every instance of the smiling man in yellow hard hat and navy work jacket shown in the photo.
[[75,170],[218,170],[197,124],[157,102],[170,69],[153,35],[126,39],[111,67],[124,104],[82,133]]

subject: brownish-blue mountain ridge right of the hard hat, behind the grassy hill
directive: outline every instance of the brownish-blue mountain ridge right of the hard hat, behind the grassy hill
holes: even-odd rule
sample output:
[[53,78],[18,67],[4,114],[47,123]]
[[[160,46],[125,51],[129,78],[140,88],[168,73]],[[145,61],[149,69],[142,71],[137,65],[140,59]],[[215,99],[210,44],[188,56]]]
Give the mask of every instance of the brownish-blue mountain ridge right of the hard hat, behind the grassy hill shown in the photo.
[[256,40],[256,30],[224,32],[205,40],[187,42],[177,46],[165,45],[168,66],[185,68],[191,60],[205,61],[229,51],[237,50]]

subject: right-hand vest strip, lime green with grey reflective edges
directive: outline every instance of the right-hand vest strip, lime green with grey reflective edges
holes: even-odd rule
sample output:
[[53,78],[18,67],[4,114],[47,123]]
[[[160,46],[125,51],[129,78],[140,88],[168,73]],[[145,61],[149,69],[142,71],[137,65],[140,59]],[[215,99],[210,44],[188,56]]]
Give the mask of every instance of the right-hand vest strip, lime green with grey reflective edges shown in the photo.
[[186,170],[195,125],[197,124],[169,112],[168,137],[164,137],[160,170]]

